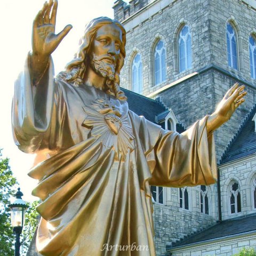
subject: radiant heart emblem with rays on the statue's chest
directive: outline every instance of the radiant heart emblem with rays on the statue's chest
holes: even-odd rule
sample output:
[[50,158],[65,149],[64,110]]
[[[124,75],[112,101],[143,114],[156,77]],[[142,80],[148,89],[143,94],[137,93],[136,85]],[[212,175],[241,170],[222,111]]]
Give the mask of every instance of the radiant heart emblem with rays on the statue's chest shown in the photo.
[[97,98],[83,106],[82,126],[90,129],[90,136],[100,140],[103,146],[113,148],[121,159],[127,151],[134,149],[134,136],[128,105],[111,98]]

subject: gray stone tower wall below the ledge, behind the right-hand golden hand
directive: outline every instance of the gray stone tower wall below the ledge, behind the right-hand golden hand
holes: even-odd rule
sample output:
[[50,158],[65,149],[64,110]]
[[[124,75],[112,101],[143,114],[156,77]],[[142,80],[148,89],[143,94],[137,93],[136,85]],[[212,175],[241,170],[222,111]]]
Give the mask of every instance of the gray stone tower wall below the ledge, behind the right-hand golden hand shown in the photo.
[[[166,107],[172,108],[178,121],[187,129],[197,119],[213,113],[218,102],[235,82],[234,78],[210,69],[170,87],[157,97],[160,97]],[[214,132],[218,163],[256,103],[256,90],[246,86],[246,91],[248,94],[245,103],[236,110],[230,121]]]

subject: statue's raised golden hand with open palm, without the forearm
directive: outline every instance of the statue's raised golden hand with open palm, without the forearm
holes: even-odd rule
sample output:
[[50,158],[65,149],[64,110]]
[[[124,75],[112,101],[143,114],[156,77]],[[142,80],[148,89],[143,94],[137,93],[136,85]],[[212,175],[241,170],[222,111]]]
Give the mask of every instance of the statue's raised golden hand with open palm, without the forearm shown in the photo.
[[42,10],[37,13],[33,22],[33,54],[49,58],[72,28],[71,25],[67,25],[59,34],[55,35],[57,7],[57,0],[54,2],[50,0],[49,3],[45,2]]

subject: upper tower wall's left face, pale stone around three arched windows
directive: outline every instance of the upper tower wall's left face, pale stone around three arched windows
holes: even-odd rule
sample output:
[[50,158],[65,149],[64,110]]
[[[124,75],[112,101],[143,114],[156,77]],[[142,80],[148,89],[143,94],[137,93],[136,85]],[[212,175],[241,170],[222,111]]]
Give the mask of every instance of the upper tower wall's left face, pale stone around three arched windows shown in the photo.
[[[154,2],[154,1],[153,1]],[[139,13],[140,23],[135,18],[124,20],[123,25],[127,31],[125,65],[121,71],[121,86],[131,90],[131,65],[134,55],[141,54],[143,64],[143,94],[147,95],[155,90],[170,84],[177,79],[193,73],[204,65],[211,63],[209,19],[210,8],[207,1],[155,1],[149,10],[154,15],[147,18],[147,10]],[[166,4],[167,3],[167,4]],[[159,4],[159,6],[157,6]],[[134,21],[135,20],[135,21]],[[190,27],[192,37],[192,68],[179,73],[177,55],[177,37],[179,29],[187,24]],[[159,39],[164,41],[166,47],[167,79],[162,84],[155,86],[154,83],[154,47]],[[201,49],[198,51],[198,49]]]

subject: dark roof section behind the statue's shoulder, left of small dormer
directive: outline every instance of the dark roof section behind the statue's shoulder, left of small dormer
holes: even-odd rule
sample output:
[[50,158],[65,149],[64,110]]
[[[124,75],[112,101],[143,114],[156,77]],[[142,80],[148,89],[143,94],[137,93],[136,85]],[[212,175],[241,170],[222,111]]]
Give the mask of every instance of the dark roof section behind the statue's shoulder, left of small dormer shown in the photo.
[[122,90],[127,97],[129,109],[139,116],[145,116],[146,119],[153,123],[155,123],[155,116],[166,110],[166,108],[156,100],[124,88],[122,88]]

